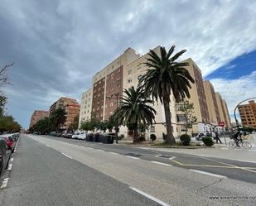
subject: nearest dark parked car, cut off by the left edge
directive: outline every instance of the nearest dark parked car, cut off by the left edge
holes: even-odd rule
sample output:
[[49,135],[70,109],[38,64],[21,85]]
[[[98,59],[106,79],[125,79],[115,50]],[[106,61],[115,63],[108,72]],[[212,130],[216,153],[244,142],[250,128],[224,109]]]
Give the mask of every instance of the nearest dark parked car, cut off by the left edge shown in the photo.
[[0,175],[3,169],[7,168],[8,162],[11,157],[10,147],[7,146],[6,141],[0,139]]

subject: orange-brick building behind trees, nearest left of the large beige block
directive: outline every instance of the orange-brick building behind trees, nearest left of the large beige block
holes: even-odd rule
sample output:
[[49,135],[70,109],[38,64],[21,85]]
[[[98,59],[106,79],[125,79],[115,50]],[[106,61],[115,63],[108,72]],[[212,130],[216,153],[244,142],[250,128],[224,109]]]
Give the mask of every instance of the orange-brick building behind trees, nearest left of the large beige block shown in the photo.
[[67,113],[65,123],[60,127],[61,130],[67,130],[74,122],[75,117],[77,117],[80,114],[80,104],[77,103],[75,98],[61,97],[49,108],[50,115],[57,108],[63,108]]

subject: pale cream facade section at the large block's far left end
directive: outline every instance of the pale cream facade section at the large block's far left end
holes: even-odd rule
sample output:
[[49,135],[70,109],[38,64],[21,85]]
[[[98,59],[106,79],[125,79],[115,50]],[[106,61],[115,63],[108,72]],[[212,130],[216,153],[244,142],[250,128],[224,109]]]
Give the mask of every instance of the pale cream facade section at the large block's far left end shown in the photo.
[[88,89],[85,93],[82,93],[80,104],[80,118],[79,125],[83,121],[89,121],[91,119],[92,102],[93,102],[93,89]]

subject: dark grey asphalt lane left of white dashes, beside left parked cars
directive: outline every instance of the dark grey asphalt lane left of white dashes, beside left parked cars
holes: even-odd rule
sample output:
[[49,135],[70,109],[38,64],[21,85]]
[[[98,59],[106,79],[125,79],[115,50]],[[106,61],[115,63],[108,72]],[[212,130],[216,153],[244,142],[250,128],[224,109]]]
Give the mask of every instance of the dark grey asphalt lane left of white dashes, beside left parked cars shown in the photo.
[[12,156],[1,206],[159,205],[118,180],[22,137]]

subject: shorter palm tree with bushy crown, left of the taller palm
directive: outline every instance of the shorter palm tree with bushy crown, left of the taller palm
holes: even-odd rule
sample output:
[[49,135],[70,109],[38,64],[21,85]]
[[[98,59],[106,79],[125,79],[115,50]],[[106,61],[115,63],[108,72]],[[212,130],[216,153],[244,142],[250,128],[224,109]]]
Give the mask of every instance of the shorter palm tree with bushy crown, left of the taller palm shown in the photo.
[[119,125],[132,125],[133,143],[138,141],[138,124],[152,124],[157,114],[156,110],[148,105],[153,101],[146,98],[144,92],[142,87],[125,89],[124,97],[120,98],[119,107],[114,113]]

